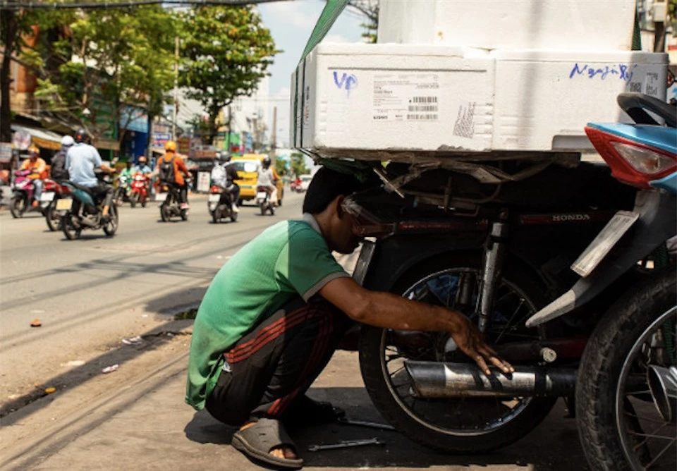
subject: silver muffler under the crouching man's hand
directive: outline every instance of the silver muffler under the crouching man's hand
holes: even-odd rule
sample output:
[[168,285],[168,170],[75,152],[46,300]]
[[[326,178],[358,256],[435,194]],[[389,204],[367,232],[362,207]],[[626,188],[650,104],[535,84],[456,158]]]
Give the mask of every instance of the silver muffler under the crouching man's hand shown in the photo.
[[463,396],[573,396],[577,369],[516,366],[505,374],[492,367],[487,376],[471,363],[419,362],[405,360],[413,389],[421,398]]

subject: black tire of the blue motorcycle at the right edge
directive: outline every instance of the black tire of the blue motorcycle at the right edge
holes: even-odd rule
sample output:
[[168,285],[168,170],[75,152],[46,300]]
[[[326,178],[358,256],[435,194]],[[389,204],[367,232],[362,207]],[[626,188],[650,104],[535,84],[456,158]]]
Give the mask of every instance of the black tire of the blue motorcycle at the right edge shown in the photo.
[[[674,271],[644,281],[616,300],[587,343],[578,370],[575,403],[580,443],[593,471],[638,469],[628,463],[623,451],[616,425],[616,388],[635,342],[661,314],[675,306],[676,288]],[[665,469],[674,469],[674,455],[674,450],[664,455],[668,460]]]

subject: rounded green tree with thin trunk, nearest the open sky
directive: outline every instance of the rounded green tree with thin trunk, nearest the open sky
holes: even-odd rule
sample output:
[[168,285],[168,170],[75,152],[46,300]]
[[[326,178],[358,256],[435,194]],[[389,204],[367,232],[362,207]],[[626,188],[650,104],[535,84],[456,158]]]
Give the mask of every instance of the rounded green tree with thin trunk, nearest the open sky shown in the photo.
[[200,6],[181,14],[181,86],[209,114],[205,140],[216,137],[216,118],[240,96],[250,96],[279,51],[251,6]]

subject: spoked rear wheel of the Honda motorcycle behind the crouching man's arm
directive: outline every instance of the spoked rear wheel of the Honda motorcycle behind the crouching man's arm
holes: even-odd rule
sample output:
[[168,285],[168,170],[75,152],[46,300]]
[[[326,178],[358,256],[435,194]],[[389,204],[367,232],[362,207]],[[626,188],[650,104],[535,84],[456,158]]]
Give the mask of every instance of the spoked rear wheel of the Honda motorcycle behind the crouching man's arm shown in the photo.
[[[461,309],[454,305],[455,295],[451,290],[465,283],[463,276],[471,280],[468,281],[471,285],[475,283],[475,289],[479,289],[480,259],[479,256],[450,254],[426,260],[402,276],[391,292]],[[513,271],[508,267],[506,263],[496,294],[494,317],[489,320],[486,334],[490,343],[496,343],[496,338],[499,343],[501,338],[508,342],[525,340],[522,329],[516,332],[519,323],[523,326],[525,319],[546,303],[543,288],[537,281],[523,271]],[[440,284],[446,281],[449,281],[446,298],[432,291],[446,288]],[[421,298],[426,290],[427,294]],[[476,297],[473,299],[476,300]],[[505,303],[505,307],[499,306],[501,302]],[[508,319],[501,308],[510,317],[504,329],[498,331],[492,328],[492,321],[499,325]],[[467,309],[474,310],[474,306]],[[534,429],[556,403],[556,398],[413,398],[409,394],[410,378],[403,365],[399,365],[404,358],[470,361],[460,352],[446,351],[449,338],[446,334],[417,335],[425,336],[422,337],[425,338],[425,346],[411,349],[406,344],[398,345],[398,333],[391,329],[363,326],[360,332],[360,369],[367,392],[383,417],[409,439],[423,446],[444,453],[480,453],[501,448]],[[532,329],[529,336],[537,339],[544,334]],[[400,366],[402,369],[399,369]]]

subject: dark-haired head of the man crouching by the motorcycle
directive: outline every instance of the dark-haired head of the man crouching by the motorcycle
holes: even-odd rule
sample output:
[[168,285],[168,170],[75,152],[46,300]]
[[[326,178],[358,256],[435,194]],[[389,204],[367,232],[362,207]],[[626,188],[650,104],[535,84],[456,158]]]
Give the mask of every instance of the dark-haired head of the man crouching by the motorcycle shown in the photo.
[[343,200],[366,185],[347,173],[322,167],[312,178],[303,200],[303,212],[315,216],[331,250],[348,254],[360,243],[353,233],[355,219],[343,209]]

